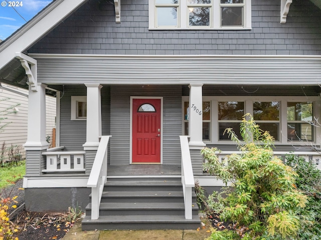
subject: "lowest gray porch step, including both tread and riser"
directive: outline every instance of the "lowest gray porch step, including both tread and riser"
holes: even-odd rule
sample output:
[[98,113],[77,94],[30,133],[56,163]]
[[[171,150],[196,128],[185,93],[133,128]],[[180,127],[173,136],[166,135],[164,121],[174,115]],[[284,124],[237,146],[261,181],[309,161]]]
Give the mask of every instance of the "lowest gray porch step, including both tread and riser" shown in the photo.
[[198,215],[185,219],[184,215],[117,215],[100,216],[91,220],[86,215],[82,230],[91,229],[197,229],[201,225]]

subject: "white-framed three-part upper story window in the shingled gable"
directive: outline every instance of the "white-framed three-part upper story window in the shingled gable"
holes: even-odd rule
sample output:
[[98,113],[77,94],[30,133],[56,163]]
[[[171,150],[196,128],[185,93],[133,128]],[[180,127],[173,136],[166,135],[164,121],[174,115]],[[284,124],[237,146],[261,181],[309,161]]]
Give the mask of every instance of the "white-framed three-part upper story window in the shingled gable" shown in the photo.
[[251,29],[251,0],[149,0],[149,29]]

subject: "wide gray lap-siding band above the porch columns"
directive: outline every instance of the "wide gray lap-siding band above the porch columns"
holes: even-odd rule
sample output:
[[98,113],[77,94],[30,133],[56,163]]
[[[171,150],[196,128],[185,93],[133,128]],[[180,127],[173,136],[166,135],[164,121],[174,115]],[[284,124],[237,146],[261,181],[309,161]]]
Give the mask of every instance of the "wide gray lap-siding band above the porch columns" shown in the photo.
[[41,58],[43,83],[101,84],[316,84],[321,59],[255,57],[98,57]]

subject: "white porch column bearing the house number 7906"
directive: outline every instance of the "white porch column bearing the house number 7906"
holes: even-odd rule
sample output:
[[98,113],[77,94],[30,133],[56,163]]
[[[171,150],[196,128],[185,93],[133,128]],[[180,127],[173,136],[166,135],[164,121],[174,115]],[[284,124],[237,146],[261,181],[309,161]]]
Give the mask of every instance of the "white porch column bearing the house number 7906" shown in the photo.
[[189,135],[190,146],[201,148],[205,146],[203,142],[203,102],[201,83],[191,83],[190,87],[190,115],[189,115]]

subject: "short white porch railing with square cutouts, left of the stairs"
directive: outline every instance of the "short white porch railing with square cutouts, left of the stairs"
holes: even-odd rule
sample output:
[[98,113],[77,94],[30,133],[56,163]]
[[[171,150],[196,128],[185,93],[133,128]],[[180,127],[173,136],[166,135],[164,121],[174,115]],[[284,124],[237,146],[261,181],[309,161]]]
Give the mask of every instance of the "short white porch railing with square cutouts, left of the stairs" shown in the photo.
[[47,157],[46,169],[42,172],[85,171],[85,151],[59,151],[64,146],[49,148],[42,154]]

